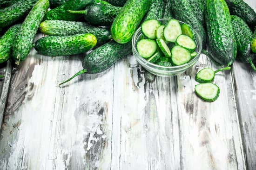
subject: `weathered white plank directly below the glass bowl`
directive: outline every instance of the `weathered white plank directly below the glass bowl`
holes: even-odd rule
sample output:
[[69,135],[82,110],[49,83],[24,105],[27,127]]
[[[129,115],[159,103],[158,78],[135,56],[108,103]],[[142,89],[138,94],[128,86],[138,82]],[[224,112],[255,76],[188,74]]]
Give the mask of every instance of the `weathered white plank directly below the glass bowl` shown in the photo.
[[172,79],[145,78],[135,57],[115,65],[112,170],[180,169]]

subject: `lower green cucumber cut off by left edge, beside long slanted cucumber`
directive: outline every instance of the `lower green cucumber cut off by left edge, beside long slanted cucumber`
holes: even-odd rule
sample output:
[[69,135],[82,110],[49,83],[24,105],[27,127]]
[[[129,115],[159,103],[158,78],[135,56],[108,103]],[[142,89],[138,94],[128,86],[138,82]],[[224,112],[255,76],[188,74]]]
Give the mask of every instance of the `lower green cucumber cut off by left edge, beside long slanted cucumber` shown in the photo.
[[19,30],[20,25],[13,25],[0,38],[0,63],[6,62],[11,57],[13,41]]

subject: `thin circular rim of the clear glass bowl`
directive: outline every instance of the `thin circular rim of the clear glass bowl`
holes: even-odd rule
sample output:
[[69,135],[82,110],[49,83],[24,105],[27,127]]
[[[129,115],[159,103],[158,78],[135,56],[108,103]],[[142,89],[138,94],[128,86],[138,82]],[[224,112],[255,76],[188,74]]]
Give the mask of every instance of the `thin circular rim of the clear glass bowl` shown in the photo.
[[[171,20],[171,19],[157,19],[158,21],[168,21],[168,20]],[[175,19],[177,21],[179,21],[179,23],[182,23],[182,24],[186,24],[178,19]],[[202,52],[202,38],[200,37],[200,35],[198,34],[197,31],[195,31],[194,28],[191,27],[191,29],[195,32],[195,35],[196,37],[198,37],[199,41],[198,41],[198,53],[197,55],[192,59],[190,60],[188,63],[185,63],[185,64],[182,64],[182,65],[178,65],[178,66],[171,66],[171,67],[167,67],[167,66],[160,66],[160,65],[157,65],[157,64],[154,64],[154,63],[150,63],[148,62],[148,60],[146,60],[145,58],[141,57],[141,55],[139,54],[139,52],[137,51],[137,48],[136,48],[136,41],[137,41],[137,38],[139,36],[135,36],[135,35],[138,35],[139,32],[141,31],[141,26],[135,31],[134,35],[133,35],[133,38],[132,38],[132,48],[133,48],[133,52],[135,52],[135,58],[136,60],[142,60],[145,64],[148,64],[150,66],[154,66],[154,67],[158,67],[158,68],[162,68],[162,69],[179,69],[179,68],[183,68],[185,66],[188,66],[190,65],[191,63],[193,63],[195,60],[198,60],[200,55],[201,55],[201,52]],[[143,34],[141,32],[141,34]],[[140,34],[140,35],[141,35]],[[137,37],[137,38],[136,38]],[[200,45],[201,44],[201,45]],[[140,57],[140,58],[138,58]]]

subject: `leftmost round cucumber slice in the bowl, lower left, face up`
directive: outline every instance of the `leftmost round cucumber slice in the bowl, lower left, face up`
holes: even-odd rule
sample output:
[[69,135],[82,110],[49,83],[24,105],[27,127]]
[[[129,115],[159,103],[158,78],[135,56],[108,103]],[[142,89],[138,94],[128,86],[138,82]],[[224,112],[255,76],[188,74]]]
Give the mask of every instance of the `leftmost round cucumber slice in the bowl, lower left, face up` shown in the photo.
[[143,58],[153,56],[153,54],[155,54],[155,51],[157,50],[157,44],[152,39],[141,39],[137,42],[136,46],[139,54]]

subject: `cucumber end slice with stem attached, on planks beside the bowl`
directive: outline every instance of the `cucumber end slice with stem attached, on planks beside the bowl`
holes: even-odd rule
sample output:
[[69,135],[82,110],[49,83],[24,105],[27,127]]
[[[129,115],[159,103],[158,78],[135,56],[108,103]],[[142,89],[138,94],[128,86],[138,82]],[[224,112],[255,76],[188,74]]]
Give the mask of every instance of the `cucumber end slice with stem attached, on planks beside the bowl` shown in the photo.
[[225,67],[222,69],[218,69],[214,71],[211,68],[204,68],[201,69],[195,76],[195,81],[200,82],[200,83],[205,83],[205,82],[212,82],[215,78],[216,73],[223,71],[223,70],[230,70],[230,67]]

